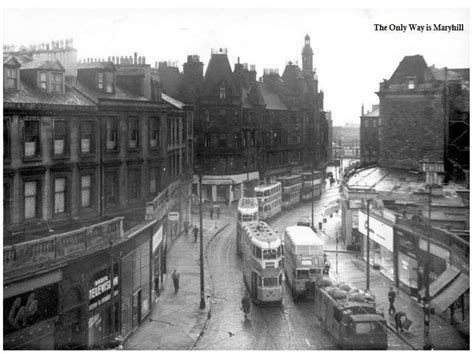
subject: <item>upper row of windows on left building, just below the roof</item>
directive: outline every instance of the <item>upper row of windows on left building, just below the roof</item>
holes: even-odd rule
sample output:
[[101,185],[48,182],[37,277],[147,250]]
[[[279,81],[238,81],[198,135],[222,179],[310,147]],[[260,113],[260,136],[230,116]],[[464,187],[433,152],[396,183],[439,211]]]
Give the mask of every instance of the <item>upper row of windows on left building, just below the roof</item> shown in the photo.
[[[160,120],[150,118],[149,120],[149,146],[157,148],[160,146]],[[118,120],[108,118],[105,124],[106,149],[116,150],[118,148]],[[97,122],[94,120],[81,120],[80,122],[80,153],[94,153],[94,138],[97,131]],[[11,153],[11,124],[9,119],[3,121],[4,159],[10,158]],[[27,119],[23,125],[23,154],[26,158],[40,157],[41,147],[41,122],[39,119]],[[53,121],[53,154],[55,157],[67,156],[69,153],[70,129],[68,120]],[[140,148],[140,121],[138,118],[128,119],[128,148]]]

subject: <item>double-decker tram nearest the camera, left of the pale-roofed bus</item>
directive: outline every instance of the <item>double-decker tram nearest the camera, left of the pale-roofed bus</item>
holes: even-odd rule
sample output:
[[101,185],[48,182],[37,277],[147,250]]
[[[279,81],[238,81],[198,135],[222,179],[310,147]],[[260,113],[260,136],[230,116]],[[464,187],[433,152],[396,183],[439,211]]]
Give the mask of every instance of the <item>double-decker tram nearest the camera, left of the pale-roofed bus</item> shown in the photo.
[[256,303],[281,303],[283,272],[281,241],[263,221],[242,225],[242,272]]

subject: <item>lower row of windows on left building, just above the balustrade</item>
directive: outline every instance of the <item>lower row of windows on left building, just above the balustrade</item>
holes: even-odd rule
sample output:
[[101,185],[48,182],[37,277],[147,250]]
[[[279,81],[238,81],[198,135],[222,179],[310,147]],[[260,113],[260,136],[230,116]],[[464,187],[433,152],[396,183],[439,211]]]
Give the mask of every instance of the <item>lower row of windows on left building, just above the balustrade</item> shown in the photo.
[[[141,170],[130,169],[127,174],[127,198],[128,202],[141,199]],[[83,173],[77,186],[80,193],[80,207],[95,207],[98,201],[98,181],[93,172]],[[25,220],[37,219],[42,216],[43,178],[41,176],[28,177],[23,180],[23,216]],[[70,212],[72,177],[70,174],[58,174],[53,177],[52,182],[52,210],[53,215],[59,217]],[[149,169],[148,193],[156,195],[160,190],[160,170],[158,167]],[[9,222],[11,208],[11,183],[5,181],[4,192],[4,220]],[[105,206],[114,206],[119,200],[119,172],[109,170],[104,175],[104,200]]]

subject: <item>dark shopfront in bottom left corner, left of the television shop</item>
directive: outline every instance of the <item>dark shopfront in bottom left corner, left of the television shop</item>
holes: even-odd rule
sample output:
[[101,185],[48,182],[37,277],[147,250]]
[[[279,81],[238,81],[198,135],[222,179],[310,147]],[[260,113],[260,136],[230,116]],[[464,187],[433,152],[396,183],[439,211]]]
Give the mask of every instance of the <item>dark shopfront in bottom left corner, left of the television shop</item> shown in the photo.
[[55,349],[61,271],[3,289],[3,349]]

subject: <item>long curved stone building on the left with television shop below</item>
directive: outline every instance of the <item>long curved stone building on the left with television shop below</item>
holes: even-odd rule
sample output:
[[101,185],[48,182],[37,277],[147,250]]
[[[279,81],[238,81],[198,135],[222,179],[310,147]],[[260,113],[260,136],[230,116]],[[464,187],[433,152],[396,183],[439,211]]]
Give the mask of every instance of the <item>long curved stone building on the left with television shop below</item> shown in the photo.
[[190,218],[193,109],[144,57],[4,47],[4,349],[110,346]]

